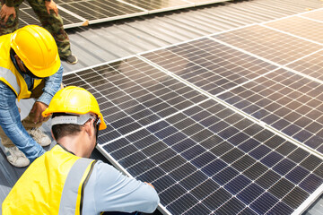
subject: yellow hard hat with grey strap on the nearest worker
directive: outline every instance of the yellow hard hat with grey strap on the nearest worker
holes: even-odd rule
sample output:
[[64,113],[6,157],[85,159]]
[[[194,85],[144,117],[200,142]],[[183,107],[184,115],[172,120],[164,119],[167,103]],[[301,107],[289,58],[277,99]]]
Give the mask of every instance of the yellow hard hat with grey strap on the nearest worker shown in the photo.
[[47,117],[53,113],[68,113],[84,115],[94,113],[100,117],[99,130],[107,128],[100,113],[100,107],[94,96],[88,91],[80,87],[69,86],[57,91],[53,99],[51,99],[48,108],[42,113]]

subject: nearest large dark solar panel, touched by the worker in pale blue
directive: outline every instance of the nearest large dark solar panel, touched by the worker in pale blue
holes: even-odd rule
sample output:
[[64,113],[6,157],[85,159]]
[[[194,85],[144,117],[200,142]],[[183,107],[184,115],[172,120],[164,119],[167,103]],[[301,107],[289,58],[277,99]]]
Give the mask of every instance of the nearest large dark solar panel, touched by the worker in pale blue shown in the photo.
[[99,150],[152,182],[169,214],[292,214],[323,183],[322,159],[138,57],[64,76],[108,128]]

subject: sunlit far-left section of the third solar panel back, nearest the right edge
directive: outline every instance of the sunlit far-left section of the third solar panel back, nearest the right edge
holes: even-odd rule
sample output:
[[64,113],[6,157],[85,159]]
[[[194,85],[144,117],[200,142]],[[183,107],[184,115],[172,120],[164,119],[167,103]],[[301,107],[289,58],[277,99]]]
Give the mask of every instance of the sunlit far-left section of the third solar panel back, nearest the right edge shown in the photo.
[[316,43],[259,25],[224,32],[215,35],[214,39],[282,65],[322,48]]

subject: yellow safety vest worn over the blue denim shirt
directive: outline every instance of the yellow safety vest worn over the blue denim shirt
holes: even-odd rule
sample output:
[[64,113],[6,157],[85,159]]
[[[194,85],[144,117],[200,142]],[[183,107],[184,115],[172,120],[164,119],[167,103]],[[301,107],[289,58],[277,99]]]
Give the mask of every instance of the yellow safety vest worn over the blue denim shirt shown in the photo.
[[[17,99],[27,99],[31,97],[27,83],[21,73],[14,67],[10,59],[10,38],[12,34],[0,37],[0,81],[8,85],[16,94]],[[39,85],[41,79],[34,80],[33,89]]]

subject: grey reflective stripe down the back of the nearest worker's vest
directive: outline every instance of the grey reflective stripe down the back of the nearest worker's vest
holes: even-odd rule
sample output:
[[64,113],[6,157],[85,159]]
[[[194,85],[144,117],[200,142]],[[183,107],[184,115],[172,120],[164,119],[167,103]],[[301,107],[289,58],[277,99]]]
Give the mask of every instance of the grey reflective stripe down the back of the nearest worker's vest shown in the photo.
[[93,159],[77,159],[66,177],[58,214],[75,214],[77,193],[86,168]]

